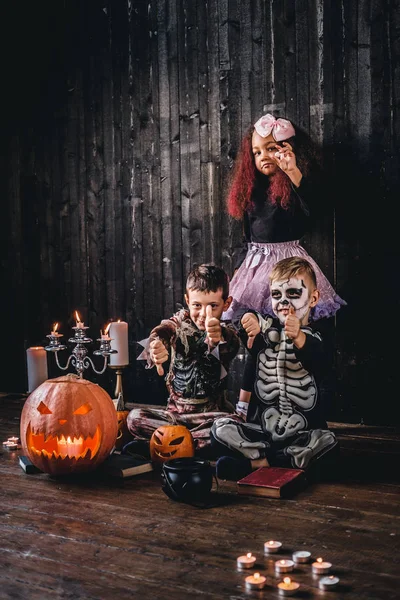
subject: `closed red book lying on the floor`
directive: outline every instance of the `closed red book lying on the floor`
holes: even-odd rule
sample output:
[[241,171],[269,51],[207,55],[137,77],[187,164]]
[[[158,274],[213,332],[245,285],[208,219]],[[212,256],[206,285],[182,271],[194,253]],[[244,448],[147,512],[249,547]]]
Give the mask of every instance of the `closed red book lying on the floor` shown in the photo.
[[288,498],[300,491],[306,484],[302,469],[282,467],[261,467],[237,482],[239,494]]

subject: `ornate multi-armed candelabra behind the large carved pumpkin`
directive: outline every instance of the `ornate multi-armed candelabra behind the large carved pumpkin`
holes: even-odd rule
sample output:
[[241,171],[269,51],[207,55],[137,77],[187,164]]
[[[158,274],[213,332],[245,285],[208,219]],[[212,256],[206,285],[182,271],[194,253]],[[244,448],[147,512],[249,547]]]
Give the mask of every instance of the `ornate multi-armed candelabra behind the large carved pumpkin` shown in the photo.
[[100,348],[95,350],[93,354],[95,356],[102,356],[104,358],[103,368],[101,370],[97,370],[92,359],[87,356],[88,351],[86,345],[93,341],[92,338],[86,336],[86,330],[89,329],[89,327],[85,327],[82,323],[79,323],[79,326],[73,327],[72,329],[75,331],[75,334],[74,337],[69,338],[68,342],[75,344],[75,347],[72,350],[65,367],[63,367],[58,360],[58,353],[60,350],[67,349],[67,346],[61,344],[60,342],[60,338],[63,337],[61,333],[52,331],[46,336],[49,338],[49,344],[48,346],[45,346],[45,350],[55,354],[57,367],[61,369],[61,371],[66,371],[69,365],[72,364],[81,379],[83,378],[85,369],[89,369],[89,367],[91,367],[93,371],[97,373],[97,375],[102,375],[107,368],[108,357],[111,354],[116,354],[118,352],[117,350],[111,349],[112,338],[110,338],[108,335],[102,335],[101,338],[97,339],[97,341],[100,342]]

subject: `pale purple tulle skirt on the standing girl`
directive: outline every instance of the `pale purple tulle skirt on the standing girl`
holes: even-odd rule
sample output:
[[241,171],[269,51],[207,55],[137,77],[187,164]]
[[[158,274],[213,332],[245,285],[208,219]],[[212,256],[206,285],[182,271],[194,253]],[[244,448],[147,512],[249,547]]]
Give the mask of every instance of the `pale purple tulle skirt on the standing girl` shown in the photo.
[[244,310],[252,308],[261,314],[273,315],[269,289],[269,274],[274,265],[283,258],[300,256],[308,260],[317,276],[320,291],[318,304],[312,309],[310,319],[317,321],[324,317],[333,317],[346,302],[340,298],[311,256],[299,241],[276,244],[249,243],[246,258],[232,277],[229,294],[233,301],[222,318],[234,320]]

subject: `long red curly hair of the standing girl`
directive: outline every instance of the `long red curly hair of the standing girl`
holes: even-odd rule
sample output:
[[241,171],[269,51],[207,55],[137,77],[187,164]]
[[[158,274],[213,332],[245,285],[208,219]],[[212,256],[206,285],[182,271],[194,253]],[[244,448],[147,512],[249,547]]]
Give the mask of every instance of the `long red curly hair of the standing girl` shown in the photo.
[[[317,160],[317,151],[316,148],[312,147],[311,140],[308,138],[308,136],[306,136],[304,132],[300,131],[298,128],[295,129],[296,137],[285,141],[290,142],[292,145],[293,150],[296,152],[297,165],[303,175],[307,175],[311,161],[313,159]],[[254,207],[252,193],[258,172],[253,156],[253,132],[254,127],[251,126],[242,140],[226,200],[228,213],[231,217],[238,220],[243,218],[243,215],[246,211],[250,211]],[[292,187],[289,177],[285,175],[281,169],[279,169],[269,179],[266,197],[272,204],[276,204],[278,202],[282,208],[286,210],[290,206],[291,192]]]

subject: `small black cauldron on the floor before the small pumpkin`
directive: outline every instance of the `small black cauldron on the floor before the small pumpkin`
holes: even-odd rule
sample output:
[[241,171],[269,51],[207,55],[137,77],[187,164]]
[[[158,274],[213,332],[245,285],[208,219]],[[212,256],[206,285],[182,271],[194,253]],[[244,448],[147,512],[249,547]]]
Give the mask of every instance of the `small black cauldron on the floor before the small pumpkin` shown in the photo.
[[208,460],[174,458],[163,464],[162,489],[172,500],[202,505],[209,501],[214,470]]

